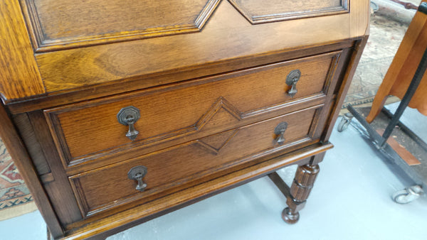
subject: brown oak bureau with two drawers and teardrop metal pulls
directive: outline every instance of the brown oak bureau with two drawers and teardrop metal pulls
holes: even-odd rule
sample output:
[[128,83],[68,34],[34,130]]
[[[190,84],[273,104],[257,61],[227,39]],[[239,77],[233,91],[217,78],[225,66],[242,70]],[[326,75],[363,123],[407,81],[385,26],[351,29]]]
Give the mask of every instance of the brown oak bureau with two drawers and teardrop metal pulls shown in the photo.
[[265,175],[295,223],[368,24],[367,0],[0,0],[1,138],[54,239]]

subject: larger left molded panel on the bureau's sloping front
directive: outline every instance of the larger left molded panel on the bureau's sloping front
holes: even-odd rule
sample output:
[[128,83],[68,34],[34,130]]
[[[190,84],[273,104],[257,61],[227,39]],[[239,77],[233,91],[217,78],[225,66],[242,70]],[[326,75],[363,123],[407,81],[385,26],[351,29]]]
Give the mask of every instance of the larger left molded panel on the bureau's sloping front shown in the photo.
[[221,0],[20,1],[41,53],[198,32]]

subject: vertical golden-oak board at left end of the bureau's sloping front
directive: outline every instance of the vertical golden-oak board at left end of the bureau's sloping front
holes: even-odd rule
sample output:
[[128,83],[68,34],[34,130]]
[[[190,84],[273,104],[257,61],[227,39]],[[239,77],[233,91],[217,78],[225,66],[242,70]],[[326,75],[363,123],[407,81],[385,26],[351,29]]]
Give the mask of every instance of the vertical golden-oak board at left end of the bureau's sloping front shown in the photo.
[[16,0],[0,1],[0,93],[4,100],[45,92]]

